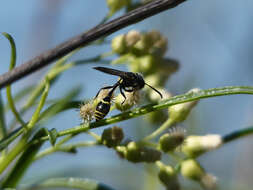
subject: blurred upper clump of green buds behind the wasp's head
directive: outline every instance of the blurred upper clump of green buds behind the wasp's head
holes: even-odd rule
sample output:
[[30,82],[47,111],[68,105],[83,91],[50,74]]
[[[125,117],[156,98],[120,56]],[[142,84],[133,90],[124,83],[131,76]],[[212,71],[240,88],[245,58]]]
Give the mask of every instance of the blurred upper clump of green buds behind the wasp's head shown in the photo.
[[[171,97],[171,93],[164,87],[171,74],[178,70],[179,63],[164,57],[168,49],[166,37],[156,30],[131,30],[113,38],[111,46],[112,51],[119,56],[112,64],[127,64],[131,72],[143,74],[145,82],[161,92],[164,99]],[[146,92],[149,102],[160,100],[152,89],[147,88]],[[121,110],[120,106],[117,108]],[[158,111],[149,114],[147,119],[151,122],[161,122],[166,117],[166,112]]]

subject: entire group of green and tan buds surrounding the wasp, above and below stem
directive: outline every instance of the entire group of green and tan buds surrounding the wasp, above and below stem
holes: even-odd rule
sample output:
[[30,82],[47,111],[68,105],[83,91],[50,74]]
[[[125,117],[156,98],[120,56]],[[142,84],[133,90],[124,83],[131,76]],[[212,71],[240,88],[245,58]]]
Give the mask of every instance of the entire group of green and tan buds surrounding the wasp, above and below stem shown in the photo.
[[[168,49],[167,39],[158,31],[139,32],[129,31],[126,34],[116,36],[111,43],[112,51],[118,56],[112,64],[127,64],[129,71],[142,73],[145,83],[158,90],[162,97],[167,99],[172,94],[165,89],[165,83],[172,73],[178,70],[179,64],[176,60],[165,58]],[[121,89],[122,90],[122,89]],[[140,90],[124,92],[114,96],[111,109],[125,111],[132,108],[140,101],[157,102],[160,97],[151,88],[145,90],[146,96]],[[198,93],[194,88],[188,93]],[[90,121],[94,118],[96,106],[103,102],[108,95],[108,90],[103,90],[91,102],[83,105],[80,115],[84,120]],[[157,111],[147,114],[148,121],[154,123],[164,122],[160,128],[152,134],[139,141],[123,141],[124,133],[119,127],[105,129],[101,136],[101,144],[113,148],[121,158],[132,163],[154,163],[158,169],[158,178],[166,189],[180,189],[178,175],[199,182],[206,189],[216,187],[216,179],[196,161],[196,158],[204,152],[218,148],[222,144],[219,135],[187,136],[182,128],[171,128],[183,122],[197,105],[198,101],[186,102],[170,106],[167,112]],[[168,130],[168,128],[170,128]],[[159,136],[158,142],[152,142]],[[180,152],[177,165],[164,164],[162,156],[175,155]],[[177,156],[176,156],[177,157]]]

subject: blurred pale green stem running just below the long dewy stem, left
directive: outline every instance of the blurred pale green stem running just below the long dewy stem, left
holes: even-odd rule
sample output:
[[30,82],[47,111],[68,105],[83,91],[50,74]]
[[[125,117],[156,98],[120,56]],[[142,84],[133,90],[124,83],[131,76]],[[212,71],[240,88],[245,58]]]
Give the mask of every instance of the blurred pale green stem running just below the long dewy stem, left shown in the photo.
[[88,147],[88,146],[95,146],[98,145],[99,143],[97,141],[86,141],[86,142],[79,142],[79,143],[73,143],[73,144],[68,144],[68,145],[56,145],[52,146],[50,148],[47,148],[46,150],[43,150],[40,152],[34,160],[39,160],[43,158],[44,156],[47,156],[49,154],[52,154],[54,152],[70,152],[71,150],[75,148],[80,148],[80,147]]

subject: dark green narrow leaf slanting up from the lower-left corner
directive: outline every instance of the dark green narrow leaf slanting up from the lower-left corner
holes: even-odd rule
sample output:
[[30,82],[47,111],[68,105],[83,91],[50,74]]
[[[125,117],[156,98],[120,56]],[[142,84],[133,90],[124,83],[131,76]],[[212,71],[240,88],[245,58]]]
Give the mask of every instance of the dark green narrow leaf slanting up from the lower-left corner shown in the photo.
[[[34,135],[31,142],[45,135],[47,135],[46,129],[42,128]],[[15,166],[10,171],[8,177],[2,183],[2,187],[16,187],[28,167],[32,164],[32,161],[39,149],[41,148],[42,144],[43,142],[31,144],[24,150],[24,152],[16,162]]]

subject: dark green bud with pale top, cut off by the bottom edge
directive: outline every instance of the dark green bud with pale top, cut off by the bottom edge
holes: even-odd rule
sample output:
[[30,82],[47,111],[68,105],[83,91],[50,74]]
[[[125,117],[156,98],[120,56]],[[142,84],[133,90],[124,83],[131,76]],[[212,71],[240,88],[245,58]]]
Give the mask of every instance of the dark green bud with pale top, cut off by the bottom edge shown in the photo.
[[158,177],[164,186],[167,189],[179,190],[180,187],[175,170],[171,166],[165,165],[161,162],[157,162],[157,165],[160,168]]

